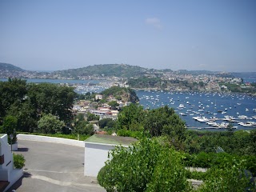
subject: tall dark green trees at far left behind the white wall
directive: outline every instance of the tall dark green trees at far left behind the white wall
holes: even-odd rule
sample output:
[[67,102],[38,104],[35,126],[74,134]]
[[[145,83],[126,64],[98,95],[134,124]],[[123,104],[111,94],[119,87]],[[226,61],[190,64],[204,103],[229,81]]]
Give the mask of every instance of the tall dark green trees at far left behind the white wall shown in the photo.
[[34,132],[42,114],[60,121],[73,119],[74,89],[49,83],[28,84],[21,79],[0,82],[0,126],[6,116],[17,119],[17,131]]

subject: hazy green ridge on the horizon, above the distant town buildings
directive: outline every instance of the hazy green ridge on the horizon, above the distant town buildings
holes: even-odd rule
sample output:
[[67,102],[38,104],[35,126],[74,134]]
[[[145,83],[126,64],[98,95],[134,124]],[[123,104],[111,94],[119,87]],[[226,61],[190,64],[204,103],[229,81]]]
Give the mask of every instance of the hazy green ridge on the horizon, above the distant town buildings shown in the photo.
[[[10,75],[5,75],[10,73]],[[24,76],[24,74],[26,75]],[[94,66],[86,66],[78,69],[70,70],[56,70],[52,72],[37,72],[23,70],[18,66],[14,66],[10,63],[0,62],[0,78],[6,77],[18,77],[26,78],[31,77],[27,74],[34,74],[34,78],[40,77],[40,75],[45,75],[47,78],[79,78],[84,76],[94,76],[94,77],[118,77],[118,78],[139,78],[139,77],[148,77],[148,78],[157,78],[161,77],[164,73],[175,73],[175,74],[192,74],[192,75],[216,75],[222,77],[230,78],[256,78],[256,72],[236,72],[236,73],[223,73],[219,71],[210,71],[210,70],[177,70],[173,71],[170,69],[166,70],[155,70],[143,68],[141,66],[130,66],[127,64],[101,64]]]

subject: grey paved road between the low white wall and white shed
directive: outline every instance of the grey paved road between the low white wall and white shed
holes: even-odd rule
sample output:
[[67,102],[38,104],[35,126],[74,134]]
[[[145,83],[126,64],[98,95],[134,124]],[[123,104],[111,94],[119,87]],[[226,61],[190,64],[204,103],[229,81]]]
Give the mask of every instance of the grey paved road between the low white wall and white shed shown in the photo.
[[83,175],[83,147],[18,140],[18,148],[15,154],[26,158],[25,174],[8,191],[106,191],[95,183],[96,178]]

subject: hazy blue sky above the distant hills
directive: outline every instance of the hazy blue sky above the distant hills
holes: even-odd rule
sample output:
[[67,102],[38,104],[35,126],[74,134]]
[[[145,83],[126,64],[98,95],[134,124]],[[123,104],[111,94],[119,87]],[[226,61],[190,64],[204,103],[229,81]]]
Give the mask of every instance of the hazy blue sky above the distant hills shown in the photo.
[[0,0],[0,62],[256,71],[256,1]]

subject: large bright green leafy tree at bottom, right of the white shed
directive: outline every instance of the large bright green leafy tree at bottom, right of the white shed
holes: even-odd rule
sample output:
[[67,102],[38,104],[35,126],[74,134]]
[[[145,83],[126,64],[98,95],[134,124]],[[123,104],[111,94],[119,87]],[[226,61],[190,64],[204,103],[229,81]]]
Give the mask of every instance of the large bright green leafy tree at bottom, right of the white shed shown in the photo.
[[190,191],[181,154],[156,139],[117,146],[98,173],[106,191]]

